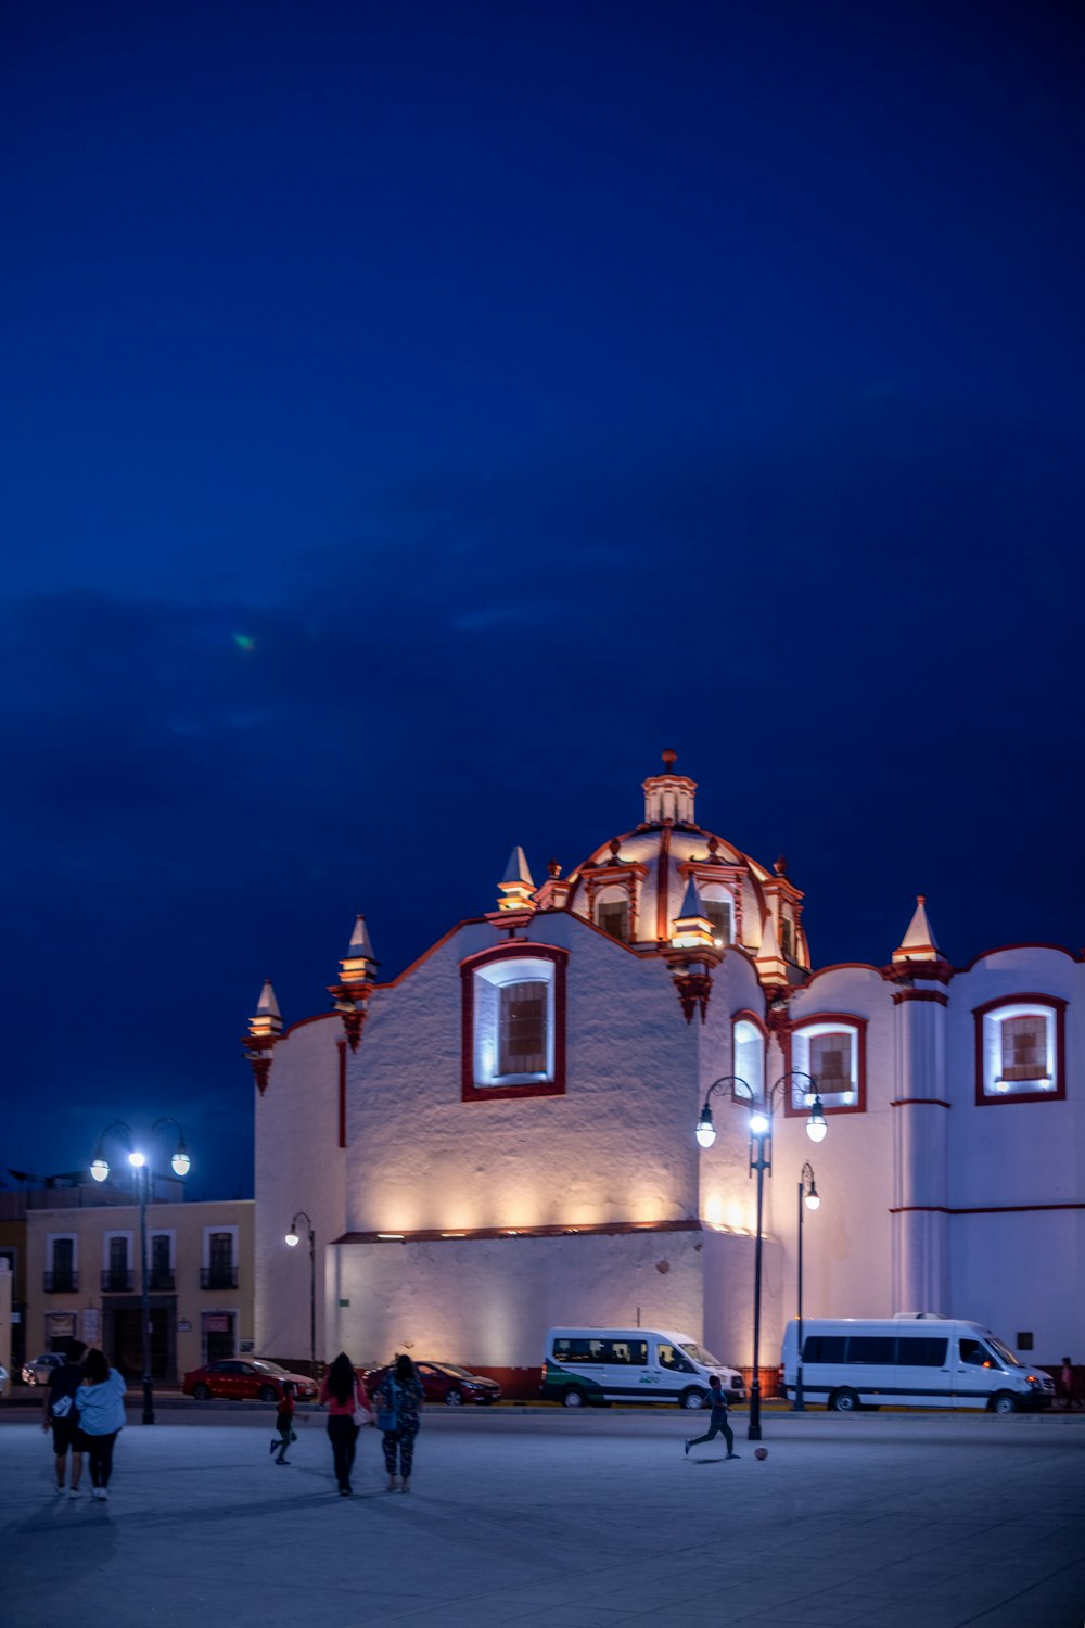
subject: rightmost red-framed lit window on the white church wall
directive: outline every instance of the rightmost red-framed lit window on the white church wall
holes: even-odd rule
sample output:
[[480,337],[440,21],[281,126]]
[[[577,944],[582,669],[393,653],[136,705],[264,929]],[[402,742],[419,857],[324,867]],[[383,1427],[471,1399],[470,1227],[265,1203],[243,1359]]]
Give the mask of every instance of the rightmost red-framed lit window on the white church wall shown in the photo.
[[1065,1097],[1065,1001],[1022,995],[974,1009],[976,1101],[1049,1102]]

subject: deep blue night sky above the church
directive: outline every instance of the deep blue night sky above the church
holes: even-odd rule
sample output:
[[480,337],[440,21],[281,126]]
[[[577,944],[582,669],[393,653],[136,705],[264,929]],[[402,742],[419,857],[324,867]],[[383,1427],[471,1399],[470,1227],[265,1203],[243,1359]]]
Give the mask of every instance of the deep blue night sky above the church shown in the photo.
[[[324,1009],[641,816],[1085,939],[1083,52],[1022,3],[10,7],[0,1166],[251,1192]],[[441,886],[434,886],[434,874]]]

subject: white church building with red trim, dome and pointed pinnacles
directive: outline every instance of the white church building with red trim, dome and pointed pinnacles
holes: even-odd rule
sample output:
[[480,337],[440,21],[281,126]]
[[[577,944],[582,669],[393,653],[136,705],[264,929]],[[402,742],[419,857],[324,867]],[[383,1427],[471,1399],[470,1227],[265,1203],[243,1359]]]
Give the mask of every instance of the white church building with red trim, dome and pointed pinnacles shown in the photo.
[[547,1327],[639,1322],[750,1372],[747,1091],[717,1089],[716,1141],[695,1136],[722,1076],[773,1110],[766,1394],[804,1164],[821,1198],[807,1315],[976,1319],[1049,1366],[1085,1350],[1082,956],[950,965],[921,899],[883,965],[815,967],[784,861],[698,825],[672,752],[643,793],[641,824],[564,876],[551,861],[535,886],[514,848],[496,897],[397,978],[379,982],[358,917],[329,1011],[286,1026],[264,985],[246,1040],[257,1350],[309,1354],[309,1252],[283,1244],[303,1213],[317,1358],[408,1350],[527,1395]]

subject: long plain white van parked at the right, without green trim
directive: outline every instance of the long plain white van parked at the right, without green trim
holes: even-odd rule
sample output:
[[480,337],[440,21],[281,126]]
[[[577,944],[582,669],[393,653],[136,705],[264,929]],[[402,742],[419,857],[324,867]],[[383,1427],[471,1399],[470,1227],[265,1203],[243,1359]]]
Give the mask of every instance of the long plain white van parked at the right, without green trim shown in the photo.
[[[782,1394],[794,1397],[799,1324],[789,1322],[781,1351]],[[802,1395],[836,1413],[862,1407],[1046,1408],[1054,1381],[1023,1368],[981,1324],[935,1312],[896,1317],[804,1317]]]

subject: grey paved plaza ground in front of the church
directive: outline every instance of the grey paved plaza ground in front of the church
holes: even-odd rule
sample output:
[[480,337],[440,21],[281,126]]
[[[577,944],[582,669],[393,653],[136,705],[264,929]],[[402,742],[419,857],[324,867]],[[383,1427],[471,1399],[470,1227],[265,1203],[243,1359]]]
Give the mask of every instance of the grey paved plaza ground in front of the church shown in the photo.
[[[107,1504],[52,1491],[0,1410],[8,1628],[1082,1628],[1085,1415],[807,1413],[683,1457],[678,1411],[429,1411],[410,1495],[363,1431],[338,1498],[324,1418],[138,1411]],[[86,1480],[86,1477],[85,1477]]]

